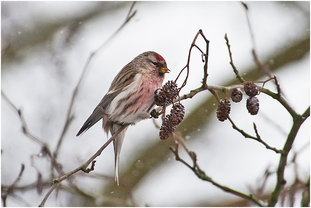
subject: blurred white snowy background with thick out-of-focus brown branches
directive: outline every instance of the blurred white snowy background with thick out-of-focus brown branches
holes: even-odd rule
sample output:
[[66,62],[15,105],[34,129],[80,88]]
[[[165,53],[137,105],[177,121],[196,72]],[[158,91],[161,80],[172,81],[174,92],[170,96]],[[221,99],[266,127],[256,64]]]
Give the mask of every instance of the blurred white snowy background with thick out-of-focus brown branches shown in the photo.
[[[310,51],[298,49],[295,54],[300,50],[300,58],[294,60],[291,56],[295,55],[290,52],[283,59],[274,58],[302,43],[310,48],[310,2],[246,3],[260,61],[271,66],[285,99],[302,114],[310,105]],[[52,151],[87,58],[123,24],[131,4],[1,2],[1,90],[21,109],[30,132],[46,142]],[[80,137],[76,134],[119,70],[142,52],[158,52],[171,70],[165,82],[175,79],[187,64],[193,38],[202,29],[210,41],[207,84],[226,86],[236,82],[224,39],[227,33],[234,65],[240,74],[249,75],[252,81],[267,79],[257,75],[246,12],[240,2],[137,2],[134,10],[136,15],[95,54],[88,66],[73,106],[75,118],[58,156],[66,173],[87,161],[106,141],[101,122]],[[200,36],[196,44],[205,51]],[[202,85],[203,64],[200,52],[193,48],[188,82],[181,95]],[[179,79],[179,86],[184,77],[185,74]],[[272,81],[265,88],[276,92]],[[258,99],[258,115],[248,114],[244,96],[241,103],[231,103],[230,117],[253,136],[255,122],[261,138],[270,146],[282,149],[292,125],[291,116],[271,97],[260,94]],[[257,187],[268,166],[276,170],[280,156],[259,142],[245,139],[232,129],[228,120],[219,122],[215,103],[208,91],[183,100],[186,114],[177,130],[189,149],[196,152],[198,164],[208,176],[249,194],[249,187]],[[160,119],[156,122],[161,123]],[[228,206],[241,200],[198,179],[175,161],[168,149],[172,141],[160,141],[158,133],[151,119],[128,128],[120,154],[120,187],[114,182],[114,153],[110,144],[96,158],[95,170],[90,173],[103,174],[106,178],[94,179],[86,174],[74,177],[78,187],[96,200],[60,190],[57,199],[54,191],[45,206]],[[302,181],[310,175],[309,141],[310,119],[301,126],[289,155],[290,160],[294,151],[304,147],[296,159]],[[45,158],[35,157],[31,166],[30,156],[39,154],[40,149],[22,133],[18,115],[2,98],[1,184],[12,184],[21,163],[26,168],[17,186],[34,183],[36,169],[44,181],[50,181],[50,165]],[[190,162],[185,151],[181,150],[180,156]],[[295,179],[290,165],[285,169],[285,179],[288,185]],[[265,189],[268,196],[275,182],[274,174]],[[49,187],[44,187],[41,195],[35,189],[16,191],[8,196],[7,206],[38,206]],[[297,206],[300,199],[301,194],[297,196]]]

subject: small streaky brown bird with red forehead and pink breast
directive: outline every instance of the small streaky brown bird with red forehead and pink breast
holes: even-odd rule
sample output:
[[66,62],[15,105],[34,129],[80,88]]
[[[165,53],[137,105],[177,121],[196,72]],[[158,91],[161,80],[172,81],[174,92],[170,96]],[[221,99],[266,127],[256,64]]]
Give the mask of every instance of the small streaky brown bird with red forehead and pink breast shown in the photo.
[[[96,106],[77,133],[79,136],[103,119],[105,133],[113,135],[122,125],[136,124],[149,118],[154,106],[154,92],[162,87],[165,73],[170,70],[162,56],[153,51],[144,52],[129,62],[111,83],[108,93]],[[115,181],[119,185],[119,154],[126,127],[114,139]]]

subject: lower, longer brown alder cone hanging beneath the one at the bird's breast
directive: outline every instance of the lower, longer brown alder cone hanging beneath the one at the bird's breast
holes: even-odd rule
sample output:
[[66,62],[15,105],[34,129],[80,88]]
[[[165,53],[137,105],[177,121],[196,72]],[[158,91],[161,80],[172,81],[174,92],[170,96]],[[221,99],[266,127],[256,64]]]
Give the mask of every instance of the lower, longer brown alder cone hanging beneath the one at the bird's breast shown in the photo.
[[165,116],[165,120],[162,123],[159,132],[160,139],[165,140],[172,136],[176,126],[183,120],[184,115],[185,107],[180,103],[174,104],[171,113]]

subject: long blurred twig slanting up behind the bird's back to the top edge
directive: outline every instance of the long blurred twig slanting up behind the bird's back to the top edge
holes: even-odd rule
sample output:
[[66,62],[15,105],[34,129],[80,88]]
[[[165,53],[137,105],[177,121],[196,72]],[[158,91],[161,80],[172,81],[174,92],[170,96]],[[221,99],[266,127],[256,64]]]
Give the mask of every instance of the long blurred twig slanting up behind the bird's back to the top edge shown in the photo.
[[136,14],[137,10],[133,11],[133,7],[135,5],[135,1],[132,3],[132,6],[130,8],[130,10],[128,11],[128,15],[126,16],[123,24],[114,32],[114,34],[112,34],[103,44],[101,44],[100,47],[98,47],[94,52],[91,52],[91,54],[89,55],[89,57],[87,58],[86,60],[86,64],[84,65],[84,68],[82,70],[82,73],[80,75],[80,78],[77,82],[77,85],[76,87],[74,88],[73,90],[73,93],[72,93],[72,97],[71,97],[71,101],[70,101],[70,104],[69,104],[69,107],[68,107],[68,110],[67,110],[67,116],[66,116],[66,122],[65,122],[65,125],[64,125],[64,128],[63,128],[63,131],[61,133],[61,136],[60,138],[58,139],[58,142],[57,142],[57,146],[56,146],[56,149],[55,151],[53,152],[53,156],[56,158],[58,156],[58,152],[59,152],[59,149],[61,147],[61,143],[63,141],[63,138],[65,136],[65,134],[67,133],[67,129],[69,127],[69,125],[71,124],[73,118],[74,118],[74,115],[72,115],[72,107],[73,107],[73,104],[74,104],[74,101],[75,101],[75,98],[77,96],[77,93],[78,93],[78,90],[79,90],[79,87],[81,85],[81,82],[82,82],[82,79],[84,77],[84,75],[86,74],[86,71],[88,69],[88,66],[91,62],[91,59],[94,57],[94,55],[99,52],[102,48],[104,48],[106,46],[107,43],[109,43],[115,36],[116,34],[118,34],[118,32],[124,27],[124,25],[126,25],[126,23],[128,23],[129,20],[132,19],[132,17]]

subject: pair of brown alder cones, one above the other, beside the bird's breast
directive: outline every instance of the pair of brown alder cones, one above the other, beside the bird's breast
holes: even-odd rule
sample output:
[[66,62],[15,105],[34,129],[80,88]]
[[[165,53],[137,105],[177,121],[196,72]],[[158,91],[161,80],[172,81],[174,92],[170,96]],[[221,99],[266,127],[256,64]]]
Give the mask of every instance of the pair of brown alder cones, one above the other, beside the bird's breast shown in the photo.
[[[177,97],[177,84],[168,81],[159,92],[155,92],[155,103],[158,106],[168,106]],[[165,140],[173,135],[176,126],[180,124],[185,115],[185,107],[181,103],[173,104],[171,113],[165,116],[160,128],[160,139]]]

